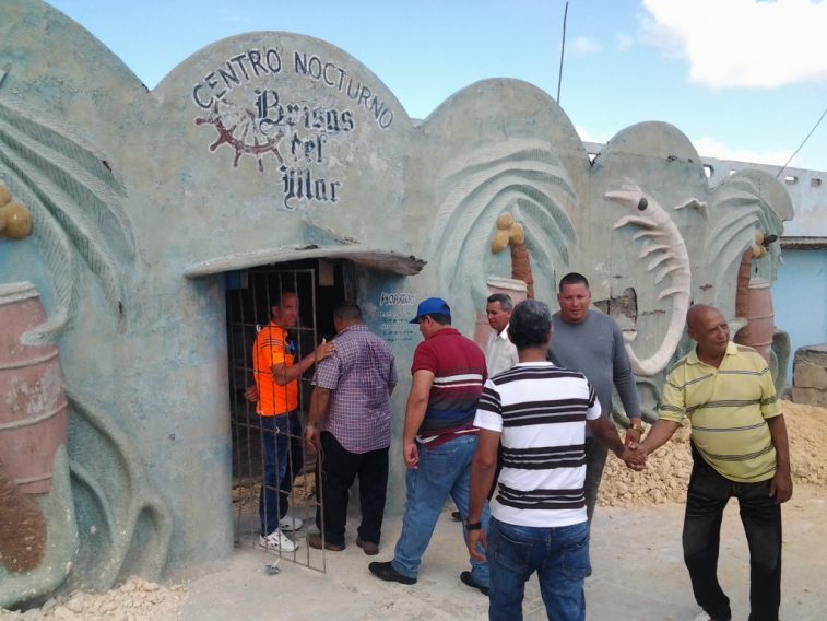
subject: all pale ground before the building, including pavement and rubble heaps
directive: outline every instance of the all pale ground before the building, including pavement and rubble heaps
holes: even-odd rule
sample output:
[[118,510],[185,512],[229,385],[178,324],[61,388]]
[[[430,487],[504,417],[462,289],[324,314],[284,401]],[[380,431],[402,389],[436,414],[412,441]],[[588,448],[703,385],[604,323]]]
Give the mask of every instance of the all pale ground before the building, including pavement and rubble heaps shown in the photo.
[[[827,581],[827,458],[823,453],[827,410],[788,402],[783,408],[795,491],[783,508],[781,618],[823,620],[827,619],[823,590]],[[680,621],[699,611],[681,552],[689,465],[684,453],[688,453],[685,437],[664,447],[661,460],[652,461],[642,477],[607,467],[601,489],[604,506],[598,509],[592,528],[592,576],[586,587],[589,620]],[[155,585],[133,578],[108,594],[61,596],[25,613],[0,610],[0,621],[485,619],[486,598],[459,581],[459,573],[466,569],[466,553],[460,525],[448,515],[451,508],[445,509],[413,586],[382,583],[367,571],[369,561],[392,556],[401,529],[401,519],[394,518],[386,522],[382,548],[375,558],[353,544],[353,535],[344,552],[309,554],[303,530],[297,558],[315,570],[246,542],[217,571],[187,584]],[[274,564],[277,573],[270,569]],[[724,516],[719,574],[734,619],[746,619],[748,551],[735,502]],[[545,619],[535,579],[527,587],[523,610],[527,621]]]

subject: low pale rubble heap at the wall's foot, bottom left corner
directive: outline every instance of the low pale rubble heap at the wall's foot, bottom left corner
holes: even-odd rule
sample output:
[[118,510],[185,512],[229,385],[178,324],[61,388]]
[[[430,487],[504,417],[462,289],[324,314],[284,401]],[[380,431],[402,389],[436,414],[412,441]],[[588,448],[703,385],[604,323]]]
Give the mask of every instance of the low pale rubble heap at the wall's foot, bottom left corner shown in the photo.
[[54,597],[40,608],[25,612],[0,609],[0,621],[155,621],[179,617],[187,598],[187,587],[160,586],[131,577],[118,588],[104,594],[71,593]]

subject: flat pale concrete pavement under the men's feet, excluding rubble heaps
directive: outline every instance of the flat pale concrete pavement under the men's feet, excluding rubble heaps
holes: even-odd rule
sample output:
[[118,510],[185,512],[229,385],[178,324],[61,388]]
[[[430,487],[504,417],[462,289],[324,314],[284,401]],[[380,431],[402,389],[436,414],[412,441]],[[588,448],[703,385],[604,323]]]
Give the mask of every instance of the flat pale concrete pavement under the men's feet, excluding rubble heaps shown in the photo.
[[[827,492],[798,489],[784,505],[784,621],[827,619]],[[587,581],[589,620],[692,620],[695,605],[681,552],[683,505],[598,508],[592,528],[592,576]],[[355,518],[352,519],[355,523]],[[401,529],[386,522],[378,556],[366,556],[348,532],[344,552],[327,552],[327,573],[282,559],[279,573],[265,565],[275,558],[239,549],[222,571],[194,581],[181,608],[185,621],[225,619],[291,621],[392,621],[487,619],[487,598],[459,581],[468,569],[460,525],[446,509],[413,586],[383,583],[367,571],[371,560],[387,561]],[[299,535],[304,537],[304,531]],[[304,539],[299,552],[307,560]],[[312,551],[310,561],[321,566]],[[748,552],[731,503],[724,516],[721,583],[732,600],[733,619],[748,616]],[[544,620],[536,581],[527,588],[527,621]]]

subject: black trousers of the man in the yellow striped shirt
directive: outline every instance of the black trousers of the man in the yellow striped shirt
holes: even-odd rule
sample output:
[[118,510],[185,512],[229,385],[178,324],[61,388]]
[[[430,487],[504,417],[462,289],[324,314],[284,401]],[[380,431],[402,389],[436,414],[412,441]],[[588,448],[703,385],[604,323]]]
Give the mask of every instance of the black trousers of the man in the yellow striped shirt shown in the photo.
[[684,561],[698,605],[716,621],[732,618],[718,583],[723,509],[739,500],[749,546],[749,621],[778,621],[781,605],[781,506],[769,495],[770,480],[735,483],[719,474],[693,447],[684,518]]

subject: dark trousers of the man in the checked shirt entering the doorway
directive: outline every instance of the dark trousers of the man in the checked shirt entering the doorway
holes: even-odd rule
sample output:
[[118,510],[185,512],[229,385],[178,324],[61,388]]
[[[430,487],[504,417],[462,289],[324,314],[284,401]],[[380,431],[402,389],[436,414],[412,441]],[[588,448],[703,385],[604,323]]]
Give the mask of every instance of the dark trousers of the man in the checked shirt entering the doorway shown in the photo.
[[316,509],[316,526],[324,534],[324,541],[344,544],[350,490],[358,476],[362,523],[357,532],[363,541],[378,544],[388,489],[388,448],[351,453],[330,432],[321,433],[320,445],[316,496],[321,495],[323,512],[322,507]]

